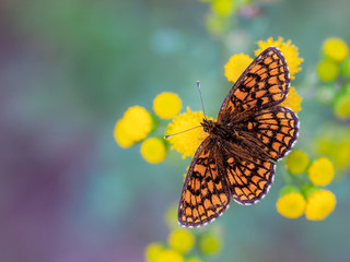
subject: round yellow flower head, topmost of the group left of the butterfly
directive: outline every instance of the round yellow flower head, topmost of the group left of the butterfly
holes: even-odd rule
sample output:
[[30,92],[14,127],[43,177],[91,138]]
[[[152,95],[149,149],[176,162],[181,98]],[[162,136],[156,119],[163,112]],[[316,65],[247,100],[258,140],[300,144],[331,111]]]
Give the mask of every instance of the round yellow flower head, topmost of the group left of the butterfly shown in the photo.
[[153,100],[153,110],[163,119],[174,118],[182,109],[182,99],[171,92],[159,94]]

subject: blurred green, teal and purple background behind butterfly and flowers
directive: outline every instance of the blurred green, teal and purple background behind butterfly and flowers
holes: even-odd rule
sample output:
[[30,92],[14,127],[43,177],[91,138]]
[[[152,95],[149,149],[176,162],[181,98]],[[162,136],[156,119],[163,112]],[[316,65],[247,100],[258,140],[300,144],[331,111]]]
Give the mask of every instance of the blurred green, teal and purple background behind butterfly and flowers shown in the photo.
[[[298,86],[315,74],[325,38],[350,40],[348,0],[258,5],[259,16],[234,17],[229,33],[214,36],[209,5],[195,0],[2,0],[0,260],[138,262],[149,242],[165,241],[164,212],[178,201],[190,159],[173,152],[150,165],[139,146],[120,148],[113,129],[124,111],[151,109],[163,91],[200,110],[200,80],[215,116],[233,53],[253,56],[270,36],[292,39],[304,58]],[[300,94],[296,147],[310,152],[336,120],[308,88]],[[349,261],[349,179],[330,187],[338,204],[326,221],[292,221],[276,211],[279,169],[264,201],[232,204],[220,218],[224,247],[210,261]]]

